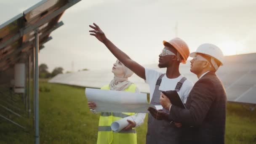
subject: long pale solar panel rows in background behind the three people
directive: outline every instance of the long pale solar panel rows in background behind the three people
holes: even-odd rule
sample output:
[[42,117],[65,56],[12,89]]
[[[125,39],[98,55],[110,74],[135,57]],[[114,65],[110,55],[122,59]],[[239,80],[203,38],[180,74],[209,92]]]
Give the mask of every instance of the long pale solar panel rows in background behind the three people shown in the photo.
[[[245,104],[256,104],[256,53],[242,54],[236,56],[225,56],[224,66],[216,72],[222,80],[227,91],[228,101]],[[110,69],[98,71],[82,71],[68,74],[59,74],[49,80],[50,83],[61,83],[67,85],[77,85],[89,88],[101,88],[109,83],[113,74]],[[160,69],[157,64],[145,66],[146,68],[155,69],[165,72],[166,69]],[[190,62],[180,65],[180,72],[193,83],[198,78],[190,72]],[[149,86],[143,79],[137,75],[129,78],[133,83],[138,85],[141,92],[149,93]]]

